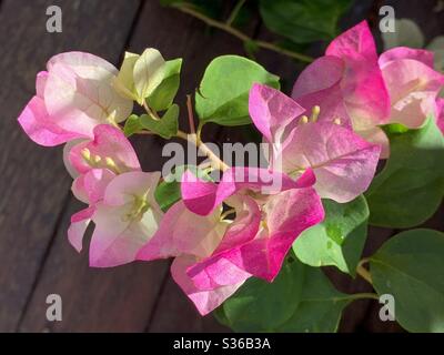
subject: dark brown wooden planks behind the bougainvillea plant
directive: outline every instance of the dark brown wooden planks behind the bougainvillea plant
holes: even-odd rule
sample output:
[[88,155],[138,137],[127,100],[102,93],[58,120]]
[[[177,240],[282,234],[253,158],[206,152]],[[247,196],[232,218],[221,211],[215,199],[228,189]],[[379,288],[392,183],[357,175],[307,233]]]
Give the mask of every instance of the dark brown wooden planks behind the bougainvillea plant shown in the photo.
[[[443,11],[436,1],[355,1],[343,20],[347,28],[367,18],[375,23],[382,4],[393,4],[397,17],[421,23],[427,39],[443,32]],[[46,31],[46,10],[63,11],[63,32]],[[234,1],[226,1],[230,13]],[[249,26],[254,38],[272,39],[260,19]],[[219,332],[213,317],[201,317],[169,276],[169,261],[133,263],[95,270],[88,266],[88,251],[80,255],[67,241],[70,215],[81,209],[69,191],[62,149],[31,142],[17,116],[34,92],[34,77],[59,52],[88,51],[119,64],[124,50],[158,48],[168,58],[184,59],[179,103],[198,87],[206,64],[216,55],[244,54],[242,43],[158,0],[0,0],[0,332]],[[313,48],[313,53],[320,53]],[[282,55],[261,51],[258,61],[279,74],[285,88],[301,65]],[[183,125],[184,122],[181,122]],[[242,130],[209,128],[211,141],[242,141]],[[160,168],[163,141],[137,138],[134,144],[145,171]],[[428,222],[444,230],[443,209]],[[377,248],[395,231],[372,229],[365,253]],[[365,292],[362,281],[351,281],[327,270],[345,292]],[[46,297],[60,294],[63,321],[48,323]],[[377,303],[351,305],[342,332],[400,332],[394,323],[377,320]]]

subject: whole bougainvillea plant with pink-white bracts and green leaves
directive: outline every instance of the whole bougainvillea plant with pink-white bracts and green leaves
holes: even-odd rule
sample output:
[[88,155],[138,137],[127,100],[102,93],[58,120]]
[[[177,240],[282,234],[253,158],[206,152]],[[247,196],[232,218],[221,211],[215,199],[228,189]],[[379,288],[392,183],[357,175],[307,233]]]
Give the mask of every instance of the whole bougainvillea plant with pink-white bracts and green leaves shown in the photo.
[[[65,143],[72,192],[85,203],[68,239],[80,252],[94,224],[90,265],[172,257],[172,277],[196,310],[215,311],[234,331],[334,332],[354,300],[391,295],[403,327],[443,332],[444,234],[412,230],[444,194],[444,75],[433,53],[379,57],[361,22],[300,74],[291,95],[258,63],[219,57],[194,108],[188,101],[190,133],[173,103],[181,65],[154,49],[125,53],[120,70],[69,52],[37,75],[19,123],[40,145]],[[145,113],[133,114],[134,103]],[[265,163],[229,164],[202,142],[208,122],[253,123]],[[186,140],[206,160],[143,172],[133,134]],[[369,224],[410,230],[362,258]],[[326,265],[375,293],[337,291]]]

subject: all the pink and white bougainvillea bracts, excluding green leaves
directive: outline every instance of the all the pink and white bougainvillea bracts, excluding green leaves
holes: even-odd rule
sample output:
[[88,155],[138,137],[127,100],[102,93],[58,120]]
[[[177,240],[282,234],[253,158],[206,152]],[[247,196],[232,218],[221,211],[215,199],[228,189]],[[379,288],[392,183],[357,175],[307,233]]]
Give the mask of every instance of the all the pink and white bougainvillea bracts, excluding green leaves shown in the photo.
[[292,98],[252,87],[250,115],[272,146],[266,174],[233,166],[214,183],[185,172],[182,200],[165,213],[154,197],[160,173],[142,172],[119,125],[133,99],[117,90],[111,63],[56,55],[19,123],[38,144],[67,143],[72,192],[88,205],[68,235],[80,252],[94,223],[90,265],[174,257],[173,278],[206,314],[249,277],[274,280],[294,240],[324,219],[321,197],[345,203],[366,191],[390,152],[381,124],[417,129],[434,114],[444,125],[444,77],[432,63],[432,53],[407,48],[377,58],[367,24],[357,24],[302,72]]

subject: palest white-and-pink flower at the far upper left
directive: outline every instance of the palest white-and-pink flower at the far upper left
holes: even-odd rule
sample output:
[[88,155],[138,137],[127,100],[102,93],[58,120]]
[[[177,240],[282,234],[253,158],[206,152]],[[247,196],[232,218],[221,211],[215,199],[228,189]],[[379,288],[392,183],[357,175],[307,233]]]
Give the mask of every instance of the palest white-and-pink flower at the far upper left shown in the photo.
[[118,70],[105,60],[68,52],[51,58],[47,69],[38,74],[37,94],[19,116],[38,144],[92,138],[95,125],[117,124],[130,115],[133,103],[113,89]]

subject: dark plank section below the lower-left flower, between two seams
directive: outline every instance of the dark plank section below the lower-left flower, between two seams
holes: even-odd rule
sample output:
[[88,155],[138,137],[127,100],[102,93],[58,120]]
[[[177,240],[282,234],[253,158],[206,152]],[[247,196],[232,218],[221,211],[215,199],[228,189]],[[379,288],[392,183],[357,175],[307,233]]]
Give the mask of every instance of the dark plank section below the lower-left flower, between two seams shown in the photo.
[[[69,217],[81,204],[71,201],[44,263],[20,332],[140,332],[155,304],[168,262],[91,268],[88,247],[79,255],[67,242]],[[47,322],[46,298],[59,294],[62,322]]]

